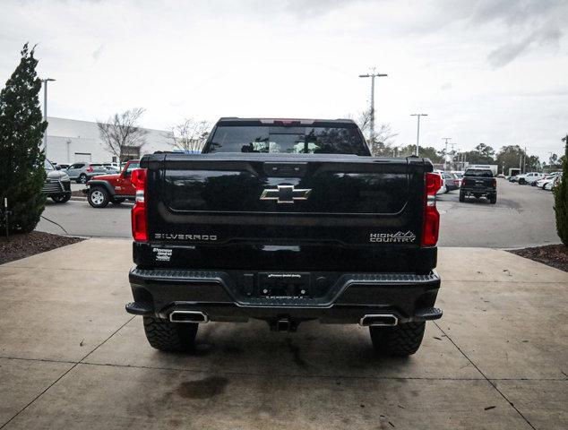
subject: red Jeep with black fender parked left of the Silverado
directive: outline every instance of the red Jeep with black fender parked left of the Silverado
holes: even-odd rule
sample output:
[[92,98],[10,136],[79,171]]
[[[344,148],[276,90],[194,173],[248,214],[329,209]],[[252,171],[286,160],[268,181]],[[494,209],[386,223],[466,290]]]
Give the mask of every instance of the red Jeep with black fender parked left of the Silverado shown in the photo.
[[83,190],[93,208],[104,208],[108,202],[120,204],[125,200],[134,200],[136,190],[131,182],[133,169],[140,167],[139,159],[131,159],[122,172],[114,175],[94,176]]

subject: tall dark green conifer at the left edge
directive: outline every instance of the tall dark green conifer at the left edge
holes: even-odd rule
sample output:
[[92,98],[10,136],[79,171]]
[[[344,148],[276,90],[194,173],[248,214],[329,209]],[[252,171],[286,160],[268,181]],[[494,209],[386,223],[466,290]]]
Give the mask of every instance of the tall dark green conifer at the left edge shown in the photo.
[[[10,232],[29,232],[39,222],[46,197],[41,193],[46,171],[41,140],[47,122],[41,116],[36,73],[38,60],[26,43],[22,59],[0,91],[0,207],[8,199]],[[0,231],[5,229],[4,217]]]

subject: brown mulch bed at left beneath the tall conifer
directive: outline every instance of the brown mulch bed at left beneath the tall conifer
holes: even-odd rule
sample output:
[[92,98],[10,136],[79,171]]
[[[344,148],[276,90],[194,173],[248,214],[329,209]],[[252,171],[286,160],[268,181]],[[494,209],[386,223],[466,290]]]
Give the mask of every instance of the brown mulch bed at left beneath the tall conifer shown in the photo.
[[45,253],[51,249],[71,245],[82,240],[84,239],[81,237],[52,235],[41,231],[11,235],[8,241],[6,241],[5,236],[0,236],[0,264]]

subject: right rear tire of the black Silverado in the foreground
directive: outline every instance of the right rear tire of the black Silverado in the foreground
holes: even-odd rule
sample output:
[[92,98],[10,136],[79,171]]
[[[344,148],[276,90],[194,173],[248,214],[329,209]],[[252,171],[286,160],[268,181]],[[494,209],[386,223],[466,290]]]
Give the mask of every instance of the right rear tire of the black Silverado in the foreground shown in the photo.
[[426,322],[404,323],[394,327],[369,327],[374,349],[384,355],[406,357],[414,354],[424,337]]

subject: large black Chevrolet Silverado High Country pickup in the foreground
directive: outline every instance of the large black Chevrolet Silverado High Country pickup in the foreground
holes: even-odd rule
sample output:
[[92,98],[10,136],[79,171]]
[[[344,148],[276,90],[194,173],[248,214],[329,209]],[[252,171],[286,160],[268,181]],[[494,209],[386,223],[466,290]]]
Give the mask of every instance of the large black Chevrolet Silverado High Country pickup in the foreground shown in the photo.
[[417,351],[435,308],[441,179],[428,159],[371,157],[350,120],[221,118],[202,154],[133,171],[133,303],[154,348],[199,323],[359,324]]

